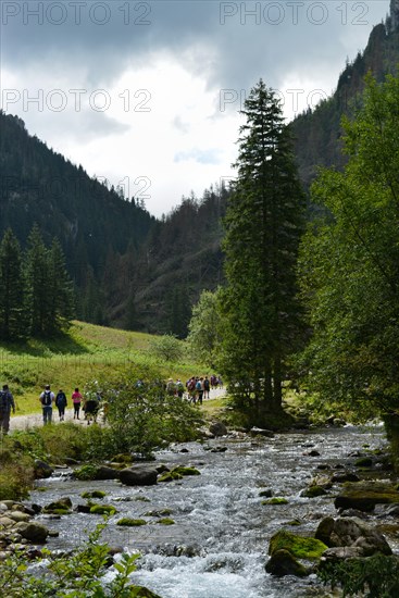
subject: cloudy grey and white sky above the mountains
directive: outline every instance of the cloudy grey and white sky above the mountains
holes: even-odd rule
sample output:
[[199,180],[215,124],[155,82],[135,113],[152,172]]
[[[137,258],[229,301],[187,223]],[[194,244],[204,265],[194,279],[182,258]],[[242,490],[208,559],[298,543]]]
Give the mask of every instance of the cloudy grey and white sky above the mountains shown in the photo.
[[154,215],[234,176],[262,77],[287,119],[334,91],[389,0],[2,0],[1,107]]

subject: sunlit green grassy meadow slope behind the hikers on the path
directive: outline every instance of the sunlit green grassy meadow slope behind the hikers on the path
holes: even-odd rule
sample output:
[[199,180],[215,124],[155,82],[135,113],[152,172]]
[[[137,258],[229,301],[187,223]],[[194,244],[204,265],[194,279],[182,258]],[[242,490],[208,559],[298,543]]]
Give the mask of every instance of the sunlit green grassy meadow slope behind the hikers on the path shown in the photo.
[[76,386],[83,388],[87,382],[129,364],[158,365],[165,379],[186,381],[194,374],[209,373],[187,350],[177,363],[160,363],[151,353],[153,338],[75,321],[67,334],[50,340],[0,344],[0,384],[10,386],[15,415],[24,415],[40,412],[38,397],[46,384],[55,394],[62,388],[70,399]]

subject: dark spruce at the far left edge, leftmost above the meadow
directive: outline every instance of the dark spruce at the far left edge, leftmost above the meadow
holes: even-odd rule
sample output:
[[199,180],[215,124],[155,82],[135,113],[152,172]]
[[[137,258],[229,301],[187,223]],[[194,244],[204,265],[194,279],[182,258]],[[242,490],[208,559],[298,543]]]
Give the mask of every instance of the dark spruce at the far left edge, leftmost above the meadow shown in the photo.
[[0,245],[0,338],[16,340],[29,334],[20,244],[9,228]]

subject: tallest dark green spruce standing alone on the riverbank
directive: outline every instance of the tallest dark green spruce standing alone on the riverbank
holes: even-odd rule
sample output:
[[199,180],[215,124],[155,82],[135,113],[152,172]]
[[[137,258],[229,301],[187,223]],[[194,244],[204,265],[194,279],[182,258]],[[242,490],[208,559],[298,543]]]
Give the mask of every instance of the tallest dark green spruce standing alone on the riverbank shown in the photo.
[[286,360],[300,329],[296,263],[304,195],[279,100],[262,79],[241,114],[225,219],[222,367],[236,401],[261,421],[280,410]]

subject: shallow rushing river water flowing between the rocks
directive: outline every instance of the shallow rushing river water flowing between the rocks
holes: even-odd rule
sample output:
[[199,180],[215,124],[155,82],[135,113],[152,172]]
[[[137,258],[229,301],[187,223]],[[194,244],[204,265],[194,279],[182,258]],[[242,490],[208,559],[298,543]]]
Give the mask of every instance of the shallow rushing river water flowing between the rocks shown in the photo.
[[[111,518],[103,538],[111,546],[141,552],[134,581],[162,598],[332,596],[315,576],[279,580],[265,573],[269,540],[282,527],[312,534],[322,516],[337,514],[337,487],[326,497],[300,496],[312,478],[323,473],[319,465],[334,469],[353,464],[353,451],[364,450],[365,445],[374,450],[384,443],[381,427],[346,426],[255,439],[237,434],[174,446],[157,454],[158,463],[194,465],[201,472],[199,476],[137,488],[116,481],[76,482],[67,471],[59,470],[38,483],[45,491],[35,490],[32,501],[47,504],[68,496],[76,506],[85,503],[80,498],[85,490],[107,491],[103,501],[114,504],[119,512]],[[320,456],[310,456],[311,450]],[[288,503],[262,504],[260,491],[265,489],[285,497]],[[154,512],[162,509],[171,510],[173,525],[158,523]],[[117,526],[123,516],[142,518],[147,525]],[[291,526],[292,520],[300,524]],[[60,533],[49,539],[49,548],[80,544],[86,537],[84,531],[92,530],[99,521],[96,515],[82,513],[46,520]]]

